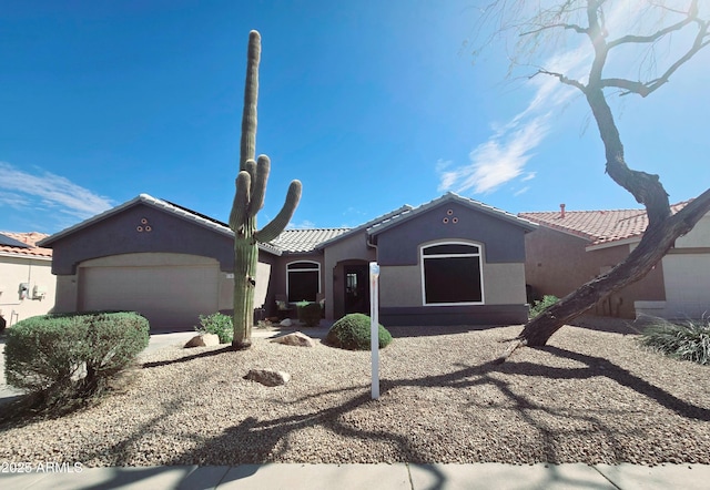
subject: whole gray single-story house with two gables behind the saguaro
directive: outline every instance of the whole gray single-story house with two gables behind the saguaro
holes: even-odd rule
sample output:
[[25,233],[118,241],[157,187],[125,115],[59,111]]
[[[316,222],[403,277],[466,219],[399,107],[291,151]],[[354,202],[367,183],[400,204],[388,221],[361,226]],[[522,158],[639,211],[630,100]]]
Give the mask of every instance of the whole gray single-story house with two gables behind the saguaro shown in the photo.
[[[448,193],[356,228],[287,229],[260,245],[255,305],[323,302],[325,317],[369,312],[377,262],[383,325],[516,324],[527,318],[525,235],[537,225]],[[57,310],[133,309],[185,328],[232,308],[233,233],[146,194],[42,241]]]

